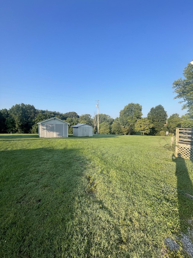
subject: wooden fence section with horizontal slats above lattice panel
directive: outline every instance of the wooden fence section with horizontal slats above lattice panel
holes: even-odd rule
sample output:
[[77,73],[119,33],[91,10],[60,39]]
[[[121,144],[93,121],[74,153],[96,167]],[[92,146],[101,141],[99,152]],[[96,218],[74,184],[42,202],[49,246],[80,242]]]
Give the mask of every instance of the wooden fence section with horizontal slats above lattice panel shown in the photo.
[[193,159],[193,128],[176,128],[176,157]]

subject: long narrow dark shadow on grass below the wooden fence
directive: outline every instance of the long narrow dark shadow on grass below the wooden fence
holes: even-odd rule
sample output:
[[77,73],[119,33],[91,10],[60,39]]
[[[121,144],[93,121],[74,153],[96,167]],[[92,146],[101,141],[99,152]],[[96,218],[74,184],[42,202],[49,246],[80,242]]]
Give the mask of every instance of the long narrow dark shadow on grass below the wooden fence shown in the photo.
[[[172,155],[172,161],[176,162],[178,213],[180,219],[180,230],[184,231],[189,227],[188,220],[193,216],[193,195],[192,181],[185,164],[185,159]],[[191,195],[191,196],[188,196]]]

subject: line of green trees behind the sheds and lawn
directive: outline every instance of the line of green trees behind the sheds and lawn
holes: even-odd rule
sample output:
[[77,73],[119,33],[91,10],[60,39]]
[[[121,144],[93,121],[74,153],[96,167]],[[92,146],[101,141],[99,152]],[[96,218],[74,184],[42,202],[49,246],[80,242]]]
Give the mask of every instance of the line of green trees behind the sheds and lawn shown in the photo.
[[[167,113],[162,105],[152,107],[147,117],[142,118],[142,106],[139,103],[129,103],[120,112],[119,117],[113,119],[109,115],[99,114],[100,134],[125,134],[131,135],[140,132],[143,135],[164,136],[166,131],[176,132],[176,127],[193,127],[193,65],[188,63],[185,67],[184,79],[174,81],[175,98],[184,103],[182,109],[187,109],[184,116],[172,114],[167,118]],[[56,111],[39,110],[29,104],[15,104],[9,110],[0,110],[0,133],[38,133],[37,122],[57,117],[68,122],[69,133],[71,126],[86,123],[93,126],[97,132],[97,115],[90,114],[79,116],[76,112],[60,113]]]

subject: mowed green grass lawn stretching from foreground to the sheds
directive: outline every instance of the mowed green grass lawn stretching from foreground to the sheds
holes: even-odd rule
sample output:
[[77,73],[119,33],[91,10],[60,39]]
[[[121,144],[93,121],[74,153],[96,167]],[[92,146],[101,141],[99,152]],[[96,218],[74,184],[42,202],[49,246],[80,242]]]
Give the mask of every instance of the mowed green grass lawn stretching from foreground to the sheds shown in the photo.
[[191,227],[170,137],[1,134],[0,151],[0,257],[160,257]]

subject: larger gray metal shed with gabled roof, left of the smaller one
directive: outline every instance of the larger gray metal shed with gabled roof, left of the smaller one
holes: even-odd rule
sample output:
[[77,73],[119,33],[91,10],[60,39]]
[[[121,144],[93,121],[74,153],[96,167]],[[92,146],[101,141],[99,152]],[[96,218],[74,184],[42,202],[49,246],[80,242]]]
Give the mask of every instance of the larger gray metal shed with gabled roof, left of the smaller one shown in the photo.
[[69,123],[59,118],[52,117],[37,124],[40,138],[68,137]]

